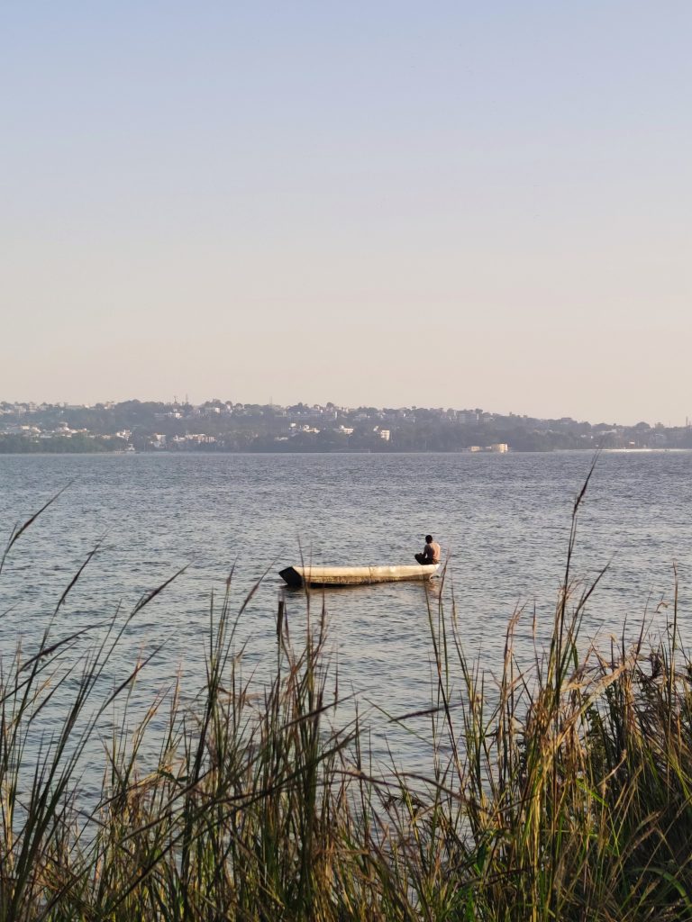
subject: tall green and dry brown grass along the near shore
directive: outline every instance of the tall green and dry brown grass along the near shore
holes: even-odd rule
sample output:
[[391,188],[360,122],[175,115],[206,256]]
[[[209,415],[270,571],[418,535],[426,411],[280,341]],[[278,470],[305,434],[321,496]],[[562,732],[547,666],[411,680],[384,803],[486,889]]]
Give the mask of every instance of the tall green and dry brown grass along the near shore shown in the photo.
[[[96,690],[126,625],[168,583],[64,635],[82,567],[37,648],[0,672],[0,922],[692,919],[692,660],[677,591],[658,641],[643,626],[633,645],[580,637],[600,579],[580,585],[571,566],[587,484],[552,638],[532,664],[513,654],[520,612],[495,679],[465,656],[453,594],[450,609],[428,597],[430,707],[392,718],[427,722],[428,774],[383,774],[359,717],[340,726],[316,592],[300,616],[280,602],[275,674],[257,695],[229,579],[212,601],[204,693],[184,704],[173,681],[131,726],[146,661],[105,699]],[[0,585],[35,518],[10,538]],[[31,751],[42,709],[64,695],[52,737]],[[102,740],[102,794],[87,806],[82,756],[113,707],[121,722]],[[156,721],[159,755],[145,766]]]

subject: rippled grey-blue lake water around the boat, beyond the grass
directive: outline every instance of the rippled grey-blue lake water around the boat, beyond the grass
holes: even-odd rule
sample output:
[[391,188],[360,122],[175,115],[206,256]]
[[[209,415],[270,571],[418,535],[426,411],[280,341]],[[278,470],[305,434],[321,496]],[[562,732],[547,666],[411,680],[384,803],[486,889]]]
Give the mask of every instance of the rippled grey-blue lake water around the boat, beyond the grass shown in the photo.
[[[246,670],[275,661],[280,567],[316,563],[402,563],[431,531],[448,555],[469,651],[496,668],[507,619],[529,609],[519,656],[531,656],[531,616],[549,629],[564,573],[570,512],[590,467],[587,454],[555,455],[0,455],[0,527],[6,536],[67,483],[69,488],[20,538],[0,575],[0,649],[40,632],[72,573],[101,550],[61,612],[64,635],[110,615],[182,566],[187,570],[128,629],[118,669],[165,641],[140,684],[150,695],[184,664],[202,680],[209,596],[234,568],[233,600],[265,578],[238,628]],[[586,631],[620,632],[645,609],[657,627],[680,583],[690,636],[692,453],[605,454],[579,525],[575,571],[588,579],[611,561],[591,602]],[[401,714],[429,703],[426,590],[380,585],[326,594],[340,691]],[[435,598],[435,589],[432,590]],[[447,599],[448,601],[448,599]],[[436,599],[435,599],[436,602]],[[289,619],[304,622],[302,596]],[[372,715],[377,722],[376,714]],[[415,746],[393,735],[395,747]]]

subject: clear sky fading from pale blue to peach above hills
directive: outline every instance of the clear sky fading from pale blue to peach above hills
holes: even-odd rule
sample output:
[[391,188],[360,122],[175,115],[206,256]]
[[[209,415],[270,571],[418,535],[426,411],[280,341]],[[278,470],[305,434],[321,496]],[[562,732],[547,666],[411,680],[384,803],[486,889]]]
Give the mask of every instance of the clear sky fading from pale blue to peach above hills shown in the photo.
[[692,418],[692,5],[0,6],[0,400]]

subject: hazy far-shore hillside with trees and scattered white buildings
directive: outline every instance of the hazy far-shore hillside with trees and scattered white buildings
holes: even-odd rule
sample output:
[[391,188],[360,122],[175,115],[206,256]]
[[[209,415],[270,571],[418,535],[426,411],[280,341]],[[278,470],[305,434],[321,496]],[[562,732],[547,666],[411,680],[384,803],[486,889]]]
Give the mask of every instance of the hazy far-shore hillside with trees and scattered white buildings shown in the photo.
[[542,420],[482,408],[376,408],[127,400],[0,401],[0,454],[137,452],[550,452],[690,448],[692,426]]

